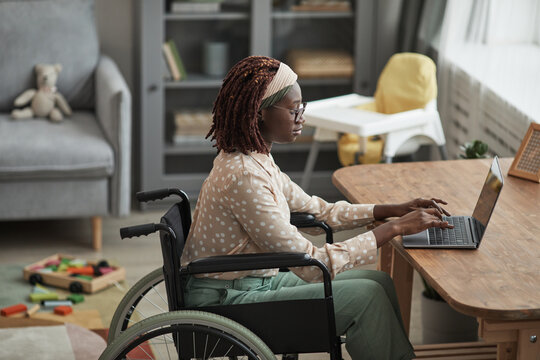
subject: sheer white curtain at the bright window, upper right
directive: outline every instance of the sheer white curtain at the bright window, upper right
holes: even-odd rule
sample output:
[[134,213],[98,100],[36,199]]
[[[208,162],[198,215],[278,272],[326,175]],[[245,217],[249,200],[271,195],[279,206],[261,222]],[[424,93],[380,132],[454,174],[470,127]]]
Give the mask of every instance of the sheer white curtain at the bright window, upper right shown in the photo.
[[449,155],[474,139],[515,154],[540,122],[540,0],[449,0],[439,45],[439,110]]

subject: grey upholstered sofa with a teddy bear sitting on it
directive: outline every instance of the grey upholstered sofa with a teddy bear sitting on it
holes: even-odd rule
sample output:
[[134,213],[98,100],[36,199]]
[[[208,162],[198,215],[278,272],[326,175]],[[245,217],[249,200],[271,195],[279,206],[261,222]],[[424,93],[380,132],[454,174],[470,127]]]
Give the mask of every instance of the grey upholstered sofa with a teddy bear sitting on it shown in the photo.
[[[0,0],[0,220],[89,217],[130,209],[131,94],[101,55],[93,0]],[[34,66],[60,63],[71,117],[14,120]]]

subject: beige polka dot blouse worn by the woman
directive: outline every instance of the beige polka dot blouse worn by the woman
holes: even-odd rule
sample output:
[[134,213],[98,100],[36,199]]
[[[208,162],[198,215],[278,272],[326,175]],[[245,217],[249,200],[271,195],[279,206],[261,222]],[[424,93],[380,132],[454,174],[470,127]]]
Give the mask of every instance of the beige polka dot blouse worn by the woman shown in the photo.
[[[193,223],[182,254],[182,265],[209,256],[268,252],[302,252],[326,264],[332,276],[375,262],[373,232],[317,248],[290,223],[291,212],[308,212],[334,231],[370,224],[374,205],[346,201],[327,203],[307,195],[280,171],[272,155],[220,152],[203,183]],[[291,269],[302,279],[322,281],[318,268]],[[278,269],[205,274],[232,280],[268,277]]]

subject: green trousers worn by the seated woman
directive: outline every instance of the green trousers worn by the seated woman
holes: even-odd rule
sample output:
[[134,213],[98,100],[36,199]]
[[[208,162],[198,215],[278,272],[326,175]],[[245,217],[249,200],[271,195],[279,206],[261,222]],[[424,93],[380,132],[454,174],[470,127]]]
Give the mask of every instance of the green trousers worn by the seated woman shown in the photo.
[[[353,360],[412,359],[392,279],[384,272],[349,270],[332,281],[338,335]],[[308,283],[292,272],[272,278],[238,280],[190,277],[185,287],[187,306],[246,304],[322,298],[322,283]]]

